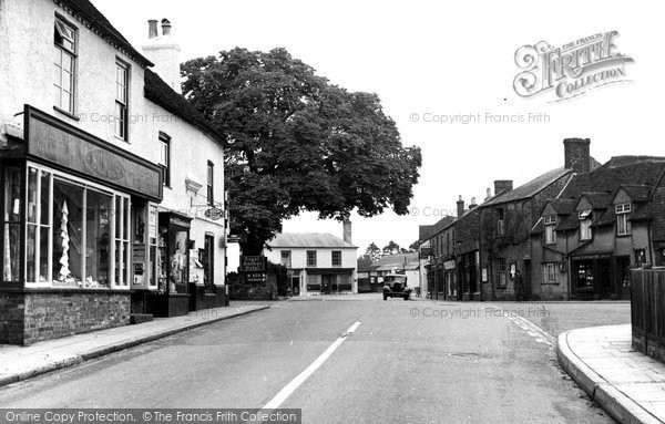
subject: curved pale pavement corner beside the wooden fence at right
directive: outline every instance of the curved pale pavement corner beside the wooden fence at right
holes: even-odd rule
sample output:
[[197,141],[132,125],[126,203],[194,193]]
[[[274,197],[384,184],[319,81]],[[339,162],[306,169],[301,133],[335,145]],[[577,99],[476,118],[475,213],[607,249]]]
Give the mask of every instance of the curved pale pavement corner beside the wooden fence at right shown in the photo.
[[632,349],[631,325],[559,335],[562,368],[621,423],[665,423],[665,364]]

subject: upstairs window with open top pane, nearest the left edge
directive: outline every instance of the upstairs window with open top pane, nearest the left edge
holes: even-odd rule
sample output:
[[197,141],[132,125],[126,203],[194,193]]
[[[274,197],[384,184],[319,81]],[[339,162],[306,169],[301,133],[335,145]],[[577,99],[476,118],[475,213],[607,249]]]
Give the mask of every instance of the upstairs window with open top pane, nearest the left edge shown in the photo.
[[76,71],[76,29],[55,18],[53,31],[55,46],[55,75],[53,81],[53,105],[66,113],[74,113],[74,86]]

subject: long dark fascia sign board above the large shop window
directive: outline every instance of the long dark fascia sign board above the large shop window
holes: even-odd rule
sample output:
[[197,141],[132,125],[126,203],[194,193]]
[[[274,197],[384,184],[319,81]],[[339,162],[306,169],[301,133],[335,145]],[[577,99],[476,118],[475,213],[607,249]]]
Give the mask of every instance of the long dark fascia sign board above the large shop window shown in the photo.
[[157,165],[25,106],[28,154],[152,199],[162,199]]

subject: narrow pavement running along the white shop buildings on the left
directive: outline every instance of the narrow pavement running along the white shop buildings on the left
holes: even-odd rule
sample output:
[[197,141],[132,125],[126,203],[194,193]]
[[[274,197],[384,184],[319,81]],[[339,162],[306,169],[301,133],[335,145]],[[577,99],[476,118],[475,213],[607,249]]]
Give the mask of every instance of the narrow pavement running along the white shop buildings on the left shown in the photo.
[[155,318],[151,322],[75,334],[28,347],[0,345],[0,386],[269,308],[269,302],[233,303],[226,308],[195,311],[184,317]]

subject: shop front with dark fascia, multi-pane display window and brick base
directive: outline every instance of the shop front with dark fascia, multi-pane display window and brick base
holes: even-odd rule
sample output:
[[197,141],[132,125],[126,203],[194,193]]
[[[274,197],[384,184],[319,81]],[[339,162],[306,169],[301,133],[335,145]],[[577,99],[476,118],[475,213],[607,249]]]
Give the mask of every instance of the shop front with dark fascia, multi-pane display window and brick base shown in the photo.
[[25,106],[0,185],[0,343],[129,323],[135,223],[161,200],[160,168]]

